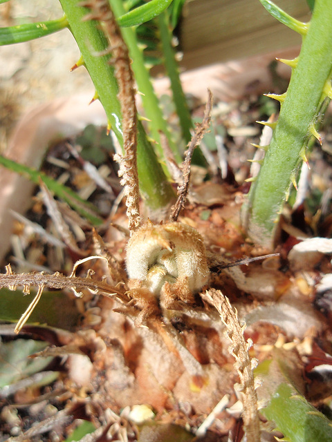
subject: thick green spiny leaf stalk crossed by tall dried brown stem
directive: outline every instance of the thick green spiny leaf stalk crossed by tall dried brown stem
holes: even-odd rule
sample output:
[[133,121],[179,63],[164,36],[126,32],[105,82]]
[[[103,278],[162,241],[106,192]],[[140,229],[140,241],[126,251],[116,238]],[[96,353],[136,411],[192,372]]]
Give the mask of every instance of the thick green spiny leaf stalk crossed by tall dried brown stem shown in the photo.
[[[104,37],[98,21],[83,21],[84,17],[89,14],[88,8],[78,6],[77,0],[60,0],[60,3],[68,19],[73,37],[80,48],[84,65],[107,114],[109,124],[122,146],[122,115],[117,97],[118,84],[111,64],[111,54],[105,54],[109,42]],[[137,126],[140,192],[149,209],[158,210],[171,202],[174,192],[172,186],[167,182],[154,149],[147,140],[142,124],[138,122]]]

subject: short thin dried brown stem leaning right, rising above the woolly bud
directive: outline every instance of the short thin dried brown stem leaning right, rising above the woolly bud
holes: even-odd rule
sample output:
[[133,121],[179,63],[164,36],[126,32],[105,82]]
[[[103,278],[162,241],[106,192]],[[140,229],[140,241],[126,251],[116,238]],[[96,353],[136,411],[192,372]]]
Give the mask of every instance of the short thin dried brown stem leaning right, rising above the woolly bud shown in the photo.
[[192,137],[192,140],[188,144],[187,152],[185,153],[185,161],[182,165],[183,183],[181,184],[181,186],[178,186],[178,199],[172,207],[172,214],[169,217],[169,221],[171,222],[176,222],[178,220],[178,215],[185,205],[185,200],[187,199],[187,194],[189,190],[190,165],[192,163],[192,154],[194,153],[196,146],[199,145],[205,132],[208,131],[208,128],[210,126],[213,97],[210,89],[208,89],[208,93],[209,97],[208,102],[205,106],[203,121],[196,124],[195,133]]

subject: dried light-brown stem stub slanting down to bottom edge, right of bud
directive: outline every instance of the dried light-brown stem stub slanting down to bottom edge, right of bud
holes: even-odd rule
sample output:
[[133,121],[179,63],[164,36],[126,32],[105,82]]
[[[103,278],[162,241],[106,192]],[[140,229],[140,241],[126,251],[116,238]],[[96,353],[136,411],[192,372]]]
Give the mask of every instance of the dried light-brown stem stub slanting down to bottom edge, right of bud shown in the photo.
[[237,369],[240,378],[240,388],[243,392],[243,425],[246,430],[247,442],[260,441],[259,415],[257,410],[257,394],[255,390],[254,375],[252,373],[252,365],[255,360],[250,361],[248,349],[251,343],[246,342],[243,337],[243,329],[237,311],[232,309],[230,301],[225,298],[220,290],[210,289],[203,298],[211,305],[214,305],[221,316],[228,337],[232,341],[230,353],[235,358],[234,367]]

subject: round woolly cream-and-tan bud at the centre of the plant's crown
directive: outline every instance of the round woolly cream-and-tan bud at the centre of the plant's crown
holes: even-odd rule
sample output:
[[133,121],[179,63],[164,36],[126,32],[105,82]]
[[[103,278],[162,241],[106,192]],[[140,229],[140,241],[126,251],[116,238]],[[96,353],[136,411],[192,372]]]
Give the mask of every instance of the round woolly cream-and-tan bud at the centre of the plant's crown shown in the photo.
[[157,297],[189,300],[208,281],[203,238],[181,222],[145,223],[131,236],[126,261],[131,287],[144,287]]

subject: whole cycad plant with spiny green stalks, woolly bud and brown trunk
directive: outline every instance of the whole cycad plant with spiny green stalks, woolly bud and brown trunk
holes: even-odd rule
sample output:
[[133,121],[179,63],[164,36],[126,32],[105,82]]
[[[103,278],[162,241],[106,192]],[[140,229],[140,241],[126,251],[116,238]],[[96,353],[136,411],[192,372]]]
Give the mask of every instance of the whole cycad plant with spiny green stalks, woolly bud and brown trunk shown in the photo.
[[[126,195],[129,240],[124,264],[112,256],[98,231],[91,229],[94,244],[91,253],[77,260],[69,276],[61,273],[47,275],[43,272],[15,274],[12,267],[7,265],[6,273],[0,278],[0,287],[24,287],[24,294],[30,293],[30,287],[37,287],[35,298],[19,320],[16,331],[19,332],[26,324],[46,288],[71,289],[78,297],[88,294],[88,303],[93,306],[97,305],[95,300],[91,301],[93,296],[104,296],[98,301],[100,323],[85,329],[77,327],[71,334],[57,332],[57,343],[62,346],[55,351],[46,349],[42,355],[89,356],[89,361],[84,359],[84,368],[90,370],[89,381],[85,384],[84,381],[77,381],[73,387],[75,394],[71,396],[66,409],[62,410],[64,427],[80,415],[77,413],[77,404],[80,403],[78,396],[82,394],[82,415],[93,423],[93,429],[89,427],[86,432],[95,430],[94,439],[81,436],[82,441],[103,440],[104,434],[111,433],[112,437],[125,440],[121,433],[123,427],[126,429],[127,440],[143,441],[149,440],[148,436],[143,436],[149,431],[149,425],[137,427],[137,416],[126,414],[122,410],[125,405],[132,407],[147,403],[154,407],[159,416],[163,416],[165,410],[171,410],[169,416],[176,414],[176,418],[171,419],[176,423],[183,423],[183,419],[189,421],[188,416],[196,416],[195,413],[202,415],[212,410],[216,403],[214,416],[223,410],[231,389],[221,387],[221,384],[225,378],[231,380],[230,370],[221,367],[221,363],[213,364],[211,361],[219,361],[221,358],[224,343],[220,332],[225,330],[232,341],[232,362],[239,375],[238,390],[239,396],[242,395],[241,416],[246,440],[258,441],[261,430],[252,374],[255,363],[248,354],[250,342],[243,338],[243,326],[239,323],[236,311],[221,294],[220,282],[216,277],[210,277],[209,267],[215,267],[218,258],[207,256],[204,238],[194,227],[178,222],[188,195],[191,163],[205,165],[201,151],[195,150],[195,147],[208,130],[212,107],[212,97],[209,95],[203,122],[194,129],[171,44],[172,28],[183,1],[151,0],[144,3],[130,0],[86,0],[77,3],[77,0],[60,0],[60,3],[64,10],[61,19],[5,28],[0,32],[0,41],[12,44],[41,37],[64,27],[71,30],[82,54],[76,66],[84,65],[91,75],[95,86],[94,99],[102,103],[109,122],[108,131],[116,135],[122,150],[115,159],[120,164],[119,175]],[[260,146],[266,151],[266,156],[243,207],[244,226],[251,240],[272,248],[277,219],[289,186],[296,182],[301,162],[307,162],[306,144],[309,137],[314,135],[320,139],[315,128],[316,120],[326,104],[326,97],[331,97],[332,6],[328,0],[316,0],[310,23],[299,23],[272,2],[261,0],[261,3],[277,19],[300,32],[304,40],[298,59],[289,62],[293,67],[293,75],[287,93],[273,96],[282,103],[280,116],[277,122],[270,124],[274,130],[270,145]],[[142,23],[149,21],[151,24],[151,20],[154,20],[154,28],[143,30]],[[172,156],[174,164],[176,160],[181,162],[183,152],[176,146],[172,132],[160,113],[158,99],[149,79],[147,59],[142,49],[142,43],[147,45],[147,42],[142,40],[151,29],[158,32],[181,134],[184,144],[187,144],[181,169],[177,166],[181,175],[181,178],[177,178],[177,198],[170,172],[162,162],[165,162],[167,155]],[[149,136],[142,125],[142,117],[137,115],[136,84],[143,96]],[[151,139],[154,140],[153,145]],[[59,198],[66,198],[95,227],[101,224],[98,214],[91,215],[91,206],[85,205],[82,209],[85,203],[70,189],[37,171],[10,162],[6,157],[0,160],[6,167],[28,175],[39,183],[48,201],[53,200],[50,189]],[[149,219],[144,222],[140,197],[149,210]],[[56,212],[57,204],[49,204]],[[169,215],[167,222],[166,214]],[[98,267],[94,260],[102,260],[106,266]],[[86,277],[77,276],[76,273],[88,262],[93,269],[86,270]],[[93,271],[98,272],[100,280],[92,278]],[[75,323],[75,319],[71,320]],[[223,355],[223,358],[227,365],[227,357]],[[268,379],[268,385],[271,383],[268,378],[269,368],[260,366],[257,369]],[[272,390],[265,398],[264,414],[267,419],[275,421],[290,440],[299,441],[297,433],[302,432],[293,428],[290,430],[289,425],[284,425],[289,408],[283,404],[288,404],[291,395],[295,393],[293,384],[285,378],[277,385],[271,383]],[[75,384],[75,378],[71,378],[68,385],[71,382]],[[281,405],[279,400],[275,400],[276,394],[279,395]],[[304,422],[306,418],[305,433],[308,440],[330,440],[331,426],[326,418],[315,412],[310,405],[304,407],[301,394],[297,395],[297,399],[292,405],[299,421]],[[191,404],[190,411],[183,411],[185,403]],[[151,408],[149,410],[151,418]],[[313,414],[315,416],[311,417]],[[172,439],[199,440],[202,434],[205,435],[208,423],[197,428],[199,419],[192,419],[189,426],[196,432],[195,439],[194,434],[181,427],[175,430],[174,427],[167,428]],[[150,439],[170,440],[169,434],[161,435],[162,430],[158,425],[156,427],[153,430],[154,439],[151,434]],[[40,432],[44,431],[43,428],[39,429]],[[317,439],[317,434],[321,439]]]

